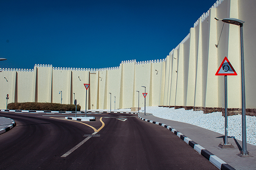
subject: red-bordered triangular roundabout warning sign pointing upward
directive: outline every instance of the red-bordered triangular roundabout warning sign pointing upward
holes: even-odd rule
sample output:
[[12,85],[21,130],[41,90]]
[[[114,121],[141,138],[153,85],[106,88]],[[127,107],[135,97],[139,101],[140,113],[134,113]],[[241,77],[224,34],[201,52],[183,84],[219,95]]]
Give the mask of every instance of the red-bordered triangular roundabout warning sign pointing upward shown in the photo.
[[235,69],[232,67],[227,57],[225,57],[221,62],[215,76],[237,76]]

